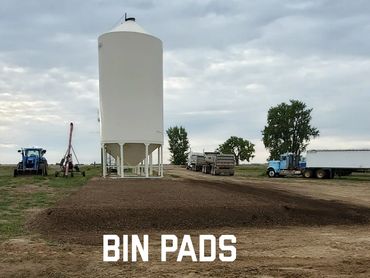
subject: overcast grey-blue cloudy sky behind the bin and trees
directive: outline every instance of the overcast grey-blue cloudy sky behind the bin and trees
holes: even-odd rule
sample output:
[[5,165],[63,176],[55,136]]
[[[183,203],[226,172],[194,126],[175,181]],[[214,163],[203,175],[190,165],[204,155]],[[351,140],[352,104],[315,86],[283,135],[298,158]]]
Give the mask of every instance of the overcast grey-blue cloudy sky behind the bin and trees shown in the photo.
[[26,146],[59,161],[71,121],[80,160],[100,161],[97,37],[124,12],[163,41],[165,128],[192,150],[235,135],[264,162],[267,110],[289,99],[314,109],[309,148],[370,148],[370,1],[0,4],[0,163]]

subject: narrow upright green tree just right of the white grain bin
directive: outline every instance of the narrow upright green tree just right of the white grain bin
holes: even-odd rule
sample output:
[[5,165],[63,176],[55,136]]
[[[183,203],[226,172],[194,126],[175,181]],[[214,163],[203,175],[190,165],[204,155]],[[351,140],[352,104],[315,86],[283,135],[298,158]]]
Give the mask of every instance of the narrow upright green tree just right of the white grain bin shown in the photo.
[[184,165],[188,157],[189,140],[188,133],[182,126],[170,127],[166,131],[168,136],[168,148],[171,152],[171,163],[175,165]]

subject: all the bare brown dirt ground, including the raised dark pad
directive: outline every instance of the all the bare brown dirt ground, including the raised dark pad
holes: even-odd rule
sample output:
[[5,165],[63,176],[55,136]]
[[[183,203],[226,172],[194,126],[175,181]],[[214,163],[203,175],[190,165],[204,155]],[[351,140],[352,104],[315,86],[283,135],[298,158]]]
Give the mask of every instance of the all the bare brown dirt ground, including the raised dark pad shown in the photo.
[[[94,179],[1,243],[7,277],[369,277],[370,181],[212,177]],[[147,233],[150,261],[102,262],[104,233]],[[234,234],[232,263],[160,262],[160,234]]]

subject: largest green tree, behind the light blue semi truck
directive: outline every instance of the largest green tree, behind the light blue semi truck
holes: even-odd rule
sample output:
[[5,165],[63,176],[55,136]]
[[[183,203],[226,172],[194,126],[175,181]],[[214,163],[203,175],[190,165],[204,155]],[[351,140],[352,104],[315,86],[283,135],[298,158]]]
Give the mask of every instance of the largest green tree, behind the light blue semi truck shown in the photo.
[[311,126],[312,110],[298,100],[269,109],[262,140],[270,152],[270,159],[279,159],[280,154],[286,152],[300,155],[311,138],[319,136],[319,130]]

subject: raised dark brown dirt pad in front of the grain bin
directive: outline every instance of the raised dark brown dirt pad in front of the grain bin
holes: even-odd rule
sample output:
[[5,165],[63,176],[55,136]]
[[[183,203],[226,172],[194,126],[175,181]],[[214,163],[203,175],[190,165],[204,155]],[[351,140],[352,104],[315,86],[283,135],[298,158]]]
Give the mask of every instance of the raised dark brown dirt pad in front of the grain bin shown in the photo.
[[106,233],[370,223],[368,208],[289,192],[194,180],[94,180],[29,222],[50,238],[100,243]]

